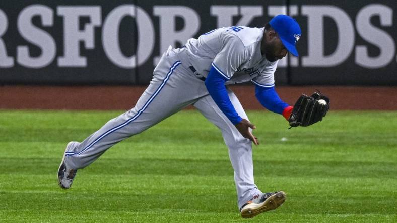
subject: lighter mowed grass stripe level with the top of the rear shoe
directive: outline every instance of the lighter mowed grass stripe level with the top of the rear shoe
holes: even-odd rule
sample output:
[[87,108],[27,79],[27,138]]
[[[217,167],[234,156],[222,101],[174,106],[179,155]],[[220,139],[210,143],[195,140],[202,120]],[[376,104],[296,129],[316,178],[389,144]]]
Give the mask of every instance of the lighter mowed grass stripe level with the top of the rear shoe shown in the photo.
[[[358,161],[358,162],[389,162],[395,163],[397,154],[393,150],[392,142],[389,144],[372,145],[344,145],[343,147],[322,144],[291,144],[281,142],[276,143],[268,141],[263,142],[260,146],[254,147],[253,153],[255,160],[278,160],[284,156],[285,161]],[[63,153],[65,143],[46,143],[46,142],[0,142],[0,148],[5,150],[17,150],[19,153],[3,153],[2,158],[46,158],[59,159]],[[376,149],[376,153],[374,153]],[[52,152],[52,151],[57,152]],[[113,152],[117,150],[117,152]],[[48,151],[51,151],[50,153]],[[187,145],[178,143],[165,143],[161,145],[148,147],[146,142],[136,141],[134,139],[126,140],[117,144],[106,152],[102,159],[118,158],[155,158],[155,159],[185,159],[188,157],[193,160],[228,160],[227,148],[221,142],[213,143],[201,142]],[[293,156],[291,156],[293,155]],[[310,155],[310,156],[309,156]]]

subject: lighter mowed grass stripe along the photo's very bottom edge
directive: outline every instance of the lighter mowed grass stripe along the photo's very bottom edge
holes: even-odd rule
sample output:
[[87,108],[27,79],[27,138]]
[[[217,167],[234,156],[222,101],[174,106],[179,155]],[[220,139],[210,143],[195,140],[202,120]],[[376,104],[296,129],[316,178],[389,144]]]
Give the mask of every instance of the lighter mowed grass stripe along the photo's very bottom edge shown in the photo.
[[[66,214],[65,214],[66,213]],[[155,213],[155,214],[153,214]],[[244,220],[235,213],[195,213],[183,210],[147,211],[53,211],[32,218],[34,211],[10,212],[14,222],[26,220],[37,222],[260,222],[256,219]],[[332,217],[332,220],[324,220]],[[0,219],[2,219],[0,217]],[[9,218],[10,219],[10,218]],[[294,214],[273,212],[261,221],[269,222],[395,222],[395,215],[383,214]]]

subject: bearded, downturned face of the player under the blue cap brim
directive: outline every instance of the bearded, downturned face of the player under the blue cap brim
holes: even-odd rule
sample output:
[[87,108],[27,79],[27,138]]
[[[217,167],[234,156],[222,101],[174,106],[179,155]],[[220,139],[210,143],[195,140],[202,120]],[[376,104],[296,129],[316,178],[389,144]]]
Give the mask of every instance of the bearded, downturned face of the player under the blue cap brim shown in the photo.
[[266,37],[266,59],[270,62],[283,59],[283,57],[287,55],[287,49],[284,47],[283,42],[281,42],[277,33],[270,32],[269,34],[270,35]]

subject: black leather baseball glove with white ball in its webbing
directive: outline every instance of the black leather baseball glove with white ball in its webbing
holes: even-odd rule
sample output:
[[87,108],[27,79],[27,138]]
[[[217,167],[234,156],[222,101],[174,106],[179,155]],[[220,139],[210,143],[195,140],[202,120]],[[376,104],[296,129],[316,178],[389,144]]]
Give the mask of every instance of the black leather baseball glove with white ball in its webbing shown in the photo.
[[[324,100],[325,103],[323,101],[319,102],[319,100]],[[321,121],[329,110],[329,102],[329,98],[322,95],[321,92],[315,92],[310,97],[302,94],[296,101],[288,119],[290,126],[310,126]]]

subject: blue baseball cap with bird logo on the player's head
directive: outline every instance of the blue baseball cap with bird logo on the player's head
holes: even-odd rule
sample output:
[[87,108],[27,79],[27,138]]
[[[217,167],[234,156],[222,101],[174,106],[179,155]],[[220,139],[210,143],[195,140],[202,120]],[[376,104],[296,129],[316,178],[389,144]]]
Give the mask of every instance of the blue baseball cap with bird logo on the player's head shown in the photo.
[[295,44],[302,35],[302,31],[296,20],[287,15],[278,15],[274,17],[269,24],[279,34],[285,48],[294,56],[299,56]]

